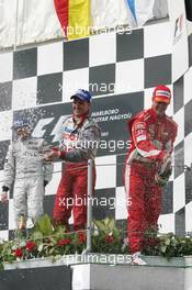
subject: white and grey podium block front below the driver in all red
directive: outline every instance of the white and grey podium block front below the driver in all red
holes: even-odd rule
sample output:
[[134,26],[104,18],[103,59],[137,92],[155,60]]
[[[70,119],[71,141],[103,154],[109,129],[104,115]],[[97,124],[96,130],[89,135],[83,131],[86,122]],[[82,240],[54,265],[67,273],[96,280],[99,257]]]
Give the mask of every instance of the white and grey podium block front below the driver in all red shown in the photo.
[[192,290],[192,267],[76,265],[72,290]]

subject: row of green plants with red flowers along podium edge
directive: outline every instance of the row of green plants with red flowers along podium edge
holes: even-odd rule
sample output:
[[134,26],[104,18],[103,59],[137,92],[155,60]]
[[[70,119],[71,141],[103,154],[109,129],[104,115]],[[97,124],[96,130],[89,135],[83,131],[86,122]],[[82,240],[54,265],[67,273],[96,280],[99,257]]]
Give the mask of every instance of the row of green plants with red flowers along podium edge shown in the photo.
[[[92,227],[92,253],[128,253],[127,238],[123,238],[123,231],[115,226],[114,219],[93,221]],[[44,215],[36,222],[29,239],[18,235],[13,241],[0,243],[0,269],[5,261],[81,254],[86,249],[86,231],[67,233],[65,226],[54,227],[49,216]],[[157,230],[149,230],[143,254],[167,258],[192,255],[192,238],[172,233],[159,235]]]

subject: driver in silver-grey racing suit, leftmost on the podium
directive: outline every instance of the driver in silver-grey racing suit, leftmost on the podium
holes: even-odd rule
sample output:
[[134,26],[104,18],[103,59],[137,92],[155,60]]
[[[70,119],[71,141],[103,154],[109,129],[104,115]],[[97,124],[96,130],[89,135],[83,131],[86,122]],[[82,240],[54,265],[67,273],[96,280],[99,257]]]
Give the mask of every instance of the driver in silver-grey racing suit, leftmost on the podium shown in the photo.
[[8,200],[8,191],[14,182],[13,207],[16,228],[25,230],[26,220],[33,222],[43,214],[45,186],[53,176],[53,164],[43,159],[48,149],[43,138],[32,137],[27,120],[14,122],[15,140],[9,147],[4,163],[1,202]]

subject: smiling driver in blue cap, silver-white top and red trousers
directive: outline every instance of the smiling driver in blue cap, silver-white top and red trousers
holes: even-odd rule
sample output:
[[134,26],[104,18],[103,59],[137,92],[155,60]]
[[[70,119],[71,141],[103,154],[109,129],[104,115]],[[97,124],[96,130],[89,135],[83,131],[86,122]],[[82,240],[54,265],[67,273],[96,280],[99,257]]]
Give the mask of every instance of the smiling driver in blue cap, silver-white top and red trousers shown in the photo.
[[[47,160],[60,158],[66,160],[63,177],[57,189],[53,217],[56,224],[66,225],[74,213],[74,228],[86,227],[88,159],[93,159],[100,142],[100,129],[90,118],[91,94],[78,90],[71,99],[74,114],[67,118],[60,129],[59,149],[54,149]],[[95,168],[92,172],[95,183]]]

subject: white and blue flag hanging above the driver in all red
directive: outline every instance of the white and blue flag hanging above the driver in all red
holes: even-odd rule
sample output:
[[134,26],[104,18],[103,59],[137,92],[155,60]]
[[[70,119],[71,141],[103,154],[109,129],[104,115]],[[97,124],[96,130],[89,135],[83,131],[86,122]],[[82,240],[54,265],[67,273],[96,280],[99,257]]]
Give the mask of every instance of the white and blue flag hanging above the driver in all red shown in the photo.
[[153,18],[153,9],[155,0],[126,0],[128,9],[132,11],[133,21],[132,27],[142,26],[144,23]]

